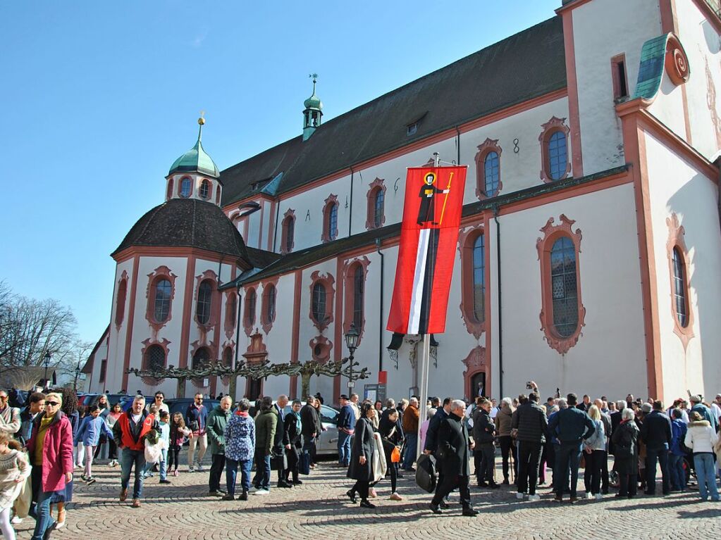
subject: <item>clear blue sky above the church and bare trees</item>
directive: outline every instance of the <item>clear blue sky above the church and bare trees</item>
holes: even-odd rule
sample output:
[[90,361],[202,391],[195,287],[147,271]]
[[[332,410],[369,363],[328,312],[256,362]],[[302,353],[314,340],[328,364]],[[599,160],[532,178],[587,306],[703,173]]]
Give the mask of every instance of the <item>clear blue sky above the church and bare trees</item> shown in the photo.
[[[554,16],[560,0],[0,4],[0,280],[110,320],[110,253],[193,146],[223,169]],[[482,84],[482,81],[479,81]]]

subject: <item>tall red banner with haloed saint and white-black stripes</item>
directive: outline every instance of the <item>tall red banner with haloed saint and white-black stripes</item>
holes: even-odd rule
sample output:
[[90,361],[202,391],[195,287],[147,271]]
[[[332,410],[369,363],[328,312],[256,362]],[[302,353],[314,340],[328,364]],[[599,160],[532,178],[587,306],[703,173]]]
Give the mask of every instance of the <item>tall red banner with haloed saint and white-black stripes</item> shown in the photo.
[[466,167],[409,168],[388,330],[446,330]]

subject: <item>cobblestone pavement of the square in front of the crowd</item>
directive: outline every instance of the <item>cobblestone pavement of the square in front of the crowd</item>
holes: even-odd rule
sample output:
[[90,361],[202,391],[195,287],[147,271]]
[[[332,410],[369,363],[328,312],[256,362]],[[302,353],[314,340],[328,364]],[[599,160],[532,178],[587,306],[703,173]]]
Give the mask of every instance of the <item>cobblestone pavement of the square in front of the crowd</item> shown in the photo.
[[[205,458],[209,463],[210,456]],[[181,462],[182,463],[182,462]],[[460,514],[457,495],[450,510],[435,516],[430,496],[420,492],[410,474],[399,479],[404,500],[389,500],[390,483],[377,487],[377,508],[351,505],[345,496],[350,481],[345,470],[319,464],[304,484],[273,488],[270,495],[249,495],[247,502],[209,497],[207,467],[189,473],[182,466],[172,485],[159,485],[157,475],[146,480],[141,508],[118,502],[120,467],[94,466],[97,482],[76,484],[68,505],[67,526],[53,539],[84,540],[226,540],[226,539],[684,539],[721,537],[721,503],[701,502],[698,492],[665,498],[640,495],[617,500],[581,500],[577,505],[552,502],[541,488],[536,503],[516,500],[508,486],[500,490],[472,488],[476,518]],[[81,471],[76,469],[79,475]],[[275,472],[273,472],[275,479]],[[583,492],[580,482],[579,494]],[[660,487],[660,486],[659,486]],[[21,523],[19,539],[29,539],[32,518]]]

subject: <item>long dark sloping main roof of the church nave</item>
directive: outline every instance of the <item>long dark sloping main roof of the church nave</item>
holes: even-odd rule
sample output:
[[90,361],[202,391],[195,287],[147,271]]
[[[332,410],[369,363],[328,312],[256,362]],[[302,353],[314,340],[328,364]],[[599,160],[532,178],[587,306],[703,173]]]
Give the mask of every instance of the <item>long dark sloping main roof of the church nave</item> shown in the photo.
[[[280,173],[277,194],[565,86],[563,28],[554,17],[329,120],[306,142],[298,135],[226,168],[223,204]],[[418,119],[409,137],[407,125]]]

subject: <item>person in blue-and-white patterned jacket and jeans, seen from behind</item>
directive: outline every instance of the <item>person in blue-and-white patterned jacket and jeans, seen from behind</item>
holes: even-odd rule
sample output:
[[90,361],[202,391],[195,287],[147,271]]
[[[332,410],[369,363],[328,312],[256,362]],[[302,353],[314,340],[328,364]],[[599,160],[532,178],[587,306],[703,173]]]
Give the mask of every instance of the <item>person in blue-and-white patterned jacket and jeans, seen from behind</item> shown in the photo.
[[228,493],[223,500],[235,498],[235,486],[238,469],[241,472],[242,492],[239,500],[248,500],[250,490],[250,469],[255,455],[255,422],[248,415],[250,402],[240,400],[238,409],[231,415],[226,424],[225,456],[226,456],[226,488]]

